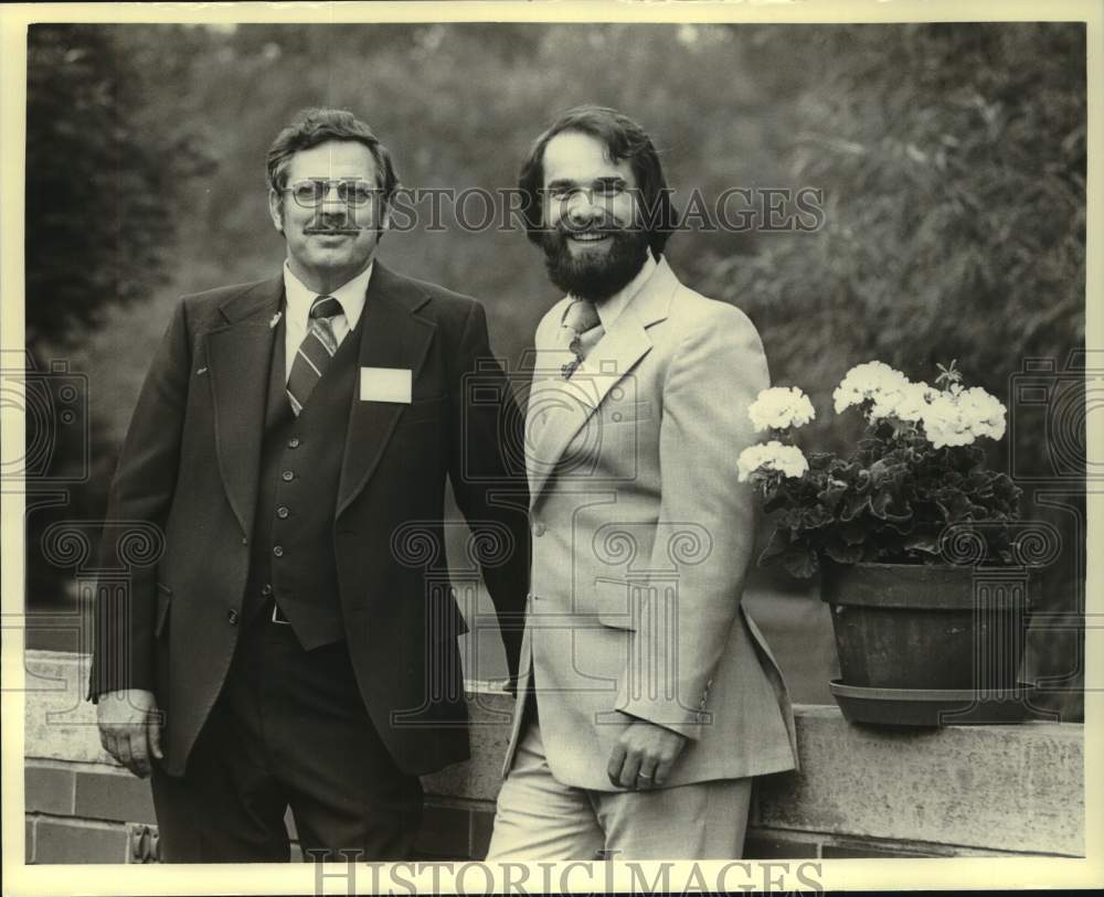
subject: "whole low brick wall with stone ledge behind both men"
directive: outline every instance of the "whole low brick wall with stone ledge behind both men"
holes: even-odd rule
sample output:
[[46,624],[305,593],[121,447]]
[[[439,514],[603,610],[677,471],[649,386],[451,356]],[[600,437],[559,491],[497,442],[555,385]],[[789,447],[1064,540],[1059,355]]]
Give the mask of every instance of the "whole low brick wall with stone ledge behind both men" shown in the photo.
[[[30,651],[26,670],[28,766],[63,773],[29,772],[26,809],[53,812],[73,794],[89,810],[100,808],[99,818],[148,816],[137,791],[128,792],[127,808],[108,812],[95,782],[78,787],[82,775],[118,770],[99,746],[95,708],[83,700],[87,659]],[[467,807],[484,826],[475,811],[479,803],[490,809],[498,794],[512,698],[468,685],[473,759],[425,777],[424,786],[431,803]],[[1081,725],[898,732],[852,726],[831,706],[798,705],[795,716],[802,770],[762,780],[753,809],[752,831],[777,850],[832,844],[846,852],[849,839],[873,839],[932,854],[946,846],[953,855],[1084,853]],[[66,769],[77,784],[72,792]],[[469,846],[484,837],[470,834]]]

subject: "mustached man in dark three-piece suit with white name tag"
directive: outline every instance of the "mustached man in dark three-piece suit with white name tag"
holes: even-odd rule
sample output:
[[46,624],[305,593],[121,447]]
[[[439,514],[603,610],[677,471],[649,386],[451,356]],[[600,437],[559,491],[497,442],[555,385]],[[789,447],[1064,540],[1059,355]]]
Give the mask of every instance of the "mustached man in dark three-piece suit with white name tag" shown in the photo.
[[89,692],[164,861],[286,862],[288,809],[308,857],[400,859],[418,776],[468,756],[446,477],[517,670],[520,418],[481,306],[374,260],[397,178],[367,125],[308,110],[268,185],[279,276],[184,297],[142,387],[108,519],[163,553],[103,590]]

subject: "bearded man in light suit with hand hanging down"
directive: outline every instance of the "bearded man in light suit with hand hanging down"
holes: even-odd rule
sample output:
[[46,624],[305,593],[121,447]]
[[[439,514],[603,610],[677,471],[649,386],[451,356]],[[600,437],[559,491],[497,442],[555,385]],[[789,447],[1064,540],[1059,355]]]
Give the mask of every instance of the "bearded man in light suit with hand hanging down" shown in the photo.
[[566,296],[535,335],[532,595],[488,858],[739,857],[752,779],[797,761],[741,606],[755,503],[735,458],[763,345],[676,277],[659,154],[627,116],[565,113],[520,188]]

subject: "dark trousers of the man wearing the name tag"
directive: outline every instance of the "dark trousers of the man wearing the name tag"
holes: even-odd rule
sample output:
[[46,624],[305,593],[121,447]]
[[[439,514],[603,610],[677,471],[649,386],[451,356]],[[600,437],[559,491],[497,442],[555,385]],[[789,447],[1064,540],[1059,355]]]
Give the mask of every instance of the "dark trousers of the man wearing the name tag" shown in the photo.
[[305,858],[408,859],[422,818],[422,784],[376,735],[346,643],[304,651],[270,612],[242,632],[184,776],[155,768],[152,784],[168,863],[287,862],[288,807]]

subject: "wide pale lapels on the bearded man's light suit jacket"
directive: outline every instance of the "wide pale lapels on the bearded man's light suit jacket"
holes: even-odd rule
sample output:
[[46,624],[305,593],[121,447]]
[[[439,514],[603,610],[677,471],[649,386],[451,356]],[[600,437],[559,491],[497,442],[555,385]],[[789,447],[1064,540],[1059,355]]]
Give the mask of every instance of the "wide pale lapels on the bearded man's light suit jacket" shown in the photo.
[[[679,287],[666,259],[633,297],[571,380],[564,381],[538,357],[539,369],[529,398],[528,456],[530,508],[535,506],[552,471],[608,392],[651,349],[647,328],[664,320]],[[541,346],[538,348],[538,354]],[[549,359],[553,354],[548,355]],[[543,376],[541,374],[543,372]],[[543,414],[543,419],[538,417]]]

